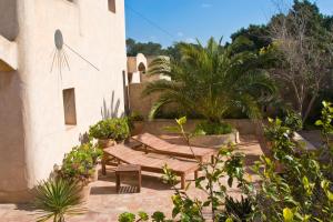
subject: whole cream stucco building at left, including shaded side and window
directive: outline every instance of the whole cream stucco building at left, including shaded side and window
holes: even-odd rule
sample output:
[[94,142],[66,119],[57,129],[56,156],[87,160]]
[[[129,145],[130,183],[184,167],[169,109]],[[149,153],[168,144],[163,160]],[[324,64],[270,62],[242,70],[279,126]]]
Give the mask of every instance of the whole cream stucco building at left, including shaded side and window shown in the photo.
[[89,125],[124,112],[124,30],[123,0],[0,1],[0,202],[28,200]]

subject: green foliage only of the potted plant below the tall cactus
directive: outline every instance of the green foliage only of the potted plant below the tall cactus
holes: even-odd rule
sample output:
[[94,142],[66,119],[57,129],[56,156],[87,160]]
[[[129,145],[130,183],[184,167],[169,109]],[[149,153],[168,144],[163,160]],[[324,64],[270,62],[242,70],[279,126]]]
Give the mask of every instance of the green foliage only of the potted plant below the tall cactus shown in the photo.
[[90,127],[89,135],[94,139],[112,139],[123,141],[130,135],[130,127],[128,118],[101,120],[97,124]]

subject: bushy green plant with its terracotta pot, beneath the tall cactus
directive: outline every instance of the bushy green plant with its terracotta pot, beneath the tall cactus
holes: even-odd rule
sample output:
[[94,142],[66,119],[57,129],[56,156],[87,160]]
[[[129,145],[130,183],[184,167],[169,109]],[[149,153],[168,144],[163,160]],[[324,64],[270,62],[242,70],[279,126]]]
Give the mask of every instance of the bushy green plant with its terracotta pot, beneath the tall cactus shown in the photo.
[[[130,127],[128,118],[113,118],[99,121],[89,129],[89,137],[98,139],[102,149],[113,147],[118,142],[122,142],[130,135]],[[107,163],[111,160],[109,155],[102,158],[102,173],[107,173]]]

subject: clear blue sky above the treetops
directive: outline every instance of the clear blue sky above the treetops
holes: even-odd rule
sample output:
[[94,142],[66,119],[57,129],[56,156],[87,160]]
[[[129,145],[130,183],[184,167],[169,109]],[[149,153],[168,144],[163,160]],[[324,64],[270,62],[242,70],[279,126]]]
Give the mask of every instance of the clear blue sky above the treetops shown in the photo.
[[[292,0],[125,0],[127,37],[163,47],[196,38],[228,41],[242,27],[268,22],[278,11],[274,2],[291,6]],[[315,2],[333,14],[333,0]]]

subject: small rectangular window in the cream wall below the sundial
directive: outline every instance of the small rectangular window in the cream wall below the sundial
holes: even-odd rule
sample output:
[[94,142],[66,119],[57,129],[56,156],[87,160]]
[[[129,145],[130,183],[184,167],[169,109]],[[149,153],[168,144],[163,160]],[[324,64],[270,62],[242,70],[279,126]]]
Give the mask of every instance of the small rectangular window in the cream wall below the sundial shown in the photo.
[[77,109],[75,109],[75,91],[74,89],[65,89],[62,91],[63,98],[63,113],[64,124],[75,125],[77,124]]

